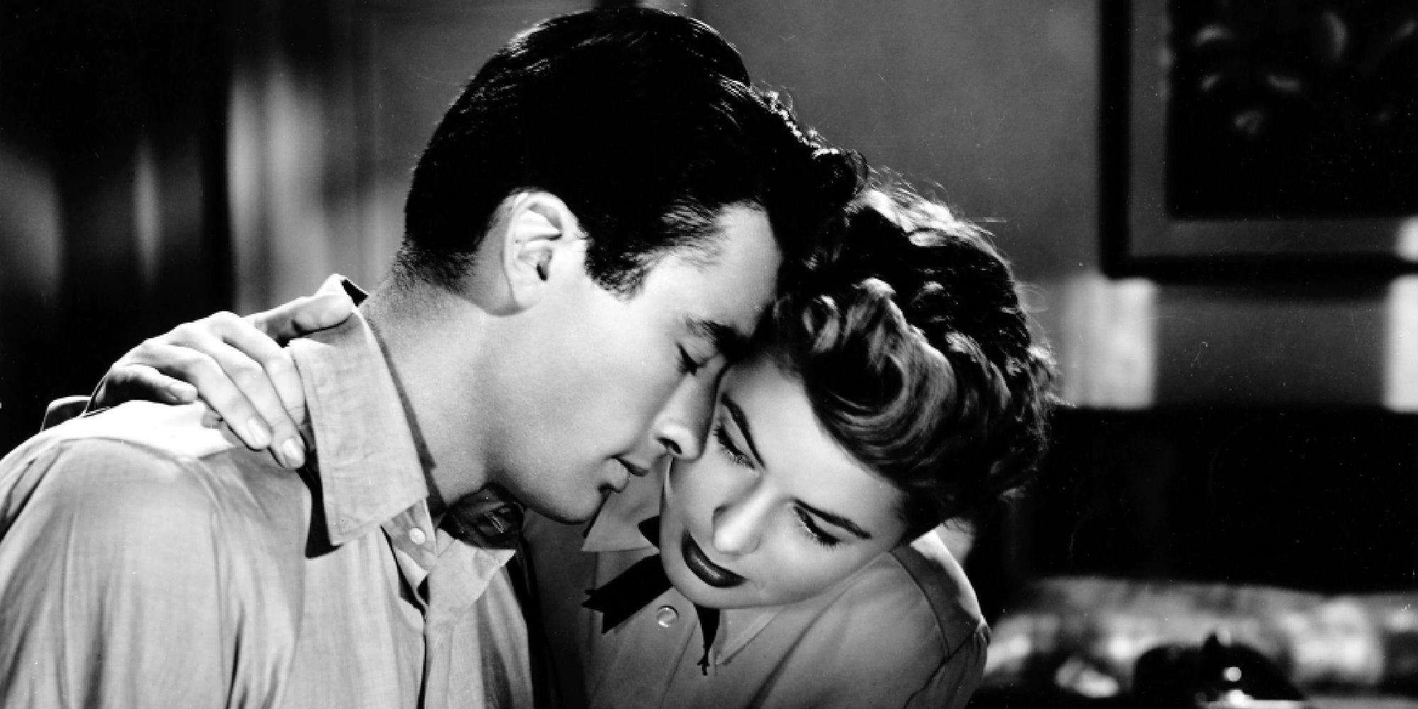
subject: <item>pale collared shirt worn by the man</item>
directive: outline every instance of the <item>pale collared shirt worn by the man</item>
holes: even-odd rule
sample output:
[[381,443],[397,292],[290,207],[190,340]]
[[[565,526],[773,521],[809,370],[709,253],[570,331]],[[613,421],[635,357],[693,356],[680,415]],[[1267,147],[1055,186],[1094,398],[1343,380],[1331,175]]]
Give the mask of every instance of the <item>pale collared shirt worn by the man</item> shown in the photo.
[[532,706],[512,552],[432,526],[364,319],[291,350],[299,476],[200,404],[123,404],[0,461],[0,706]]

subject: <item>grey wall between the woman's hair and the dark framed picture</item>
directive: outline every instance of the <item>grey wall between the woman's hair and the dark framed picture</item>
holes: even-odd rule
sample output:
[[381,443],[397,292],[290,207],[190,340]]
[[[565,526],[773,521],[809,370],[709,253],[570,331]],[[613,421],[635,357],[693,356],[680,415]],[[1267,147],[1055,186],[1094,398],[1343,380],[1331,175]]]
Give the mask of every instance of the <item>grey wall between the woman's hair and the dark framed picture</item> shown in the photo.
[[[873,163],[943,187],[1035,285],[1079,406],[1412,408],[1391,288],[1157,285],[1099,265],[1099,3],[709,0],[760,81]],[[1400,284],[1394,288],[1411,288]],[[1405,291],[1404,291],[1405,292]],[[1394,301],[1397,302],[1397,301]]]

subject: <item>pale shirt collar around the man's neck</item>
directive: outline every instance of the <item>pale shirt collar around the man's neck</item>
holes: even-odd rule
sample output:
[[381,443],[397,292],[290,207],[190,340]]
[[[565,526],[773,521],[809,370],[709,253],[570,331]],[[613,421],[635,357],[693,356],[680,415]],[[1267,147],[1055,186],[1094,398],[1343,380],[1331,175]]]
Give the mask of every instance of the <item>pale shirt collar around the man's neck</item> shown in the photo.
[[428,498],[408,420],[374,332],[356,309],[291,342],[332,545],[363,536]]

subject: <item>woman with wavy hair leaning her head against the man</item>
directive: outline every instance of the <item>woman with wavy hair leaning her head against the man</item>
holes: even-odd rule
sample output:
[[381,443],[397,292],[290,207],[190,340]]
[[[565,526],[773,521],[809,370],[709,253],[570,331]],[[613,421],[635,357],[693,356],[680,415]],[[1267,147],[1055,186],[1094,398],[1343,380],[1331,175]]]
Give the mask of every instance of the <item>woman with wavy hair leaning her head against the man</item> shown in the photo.
[[[963,706],[977,686],[987,628],[930,532],[1032,471],[1049,354],[1007,264],[944,207],[878,186],[842,225],[726,376],[702,457],[608,499],[584,537],[527,523],[527,615],[559,703]],[[179,374],[170,345],[233,362],[187,328],[126,362]],[[225,336],[272,377],[241,391],[298,401],[254,337]],[[189,379],[240,400],[224,377]]]

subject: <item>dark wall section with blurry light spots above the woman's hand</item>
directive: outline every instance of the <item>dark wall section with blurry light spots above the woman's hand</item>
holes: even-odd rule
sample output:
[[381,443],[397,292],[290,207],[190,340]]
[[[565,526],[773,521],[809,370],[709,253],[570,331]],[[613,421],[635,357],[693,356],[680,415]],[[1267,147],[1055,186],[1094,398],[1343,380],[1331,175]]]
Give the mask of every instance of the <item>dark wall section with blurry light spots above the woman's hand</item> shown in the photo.
[[[0,450],[143,336],[230,308],[221,7],[0,13]],[[214,51],[216,48],[216,51]]]

